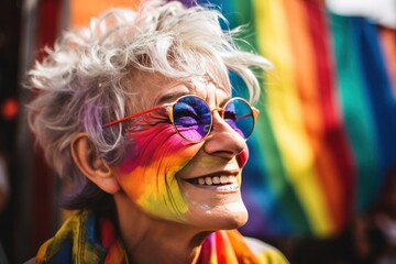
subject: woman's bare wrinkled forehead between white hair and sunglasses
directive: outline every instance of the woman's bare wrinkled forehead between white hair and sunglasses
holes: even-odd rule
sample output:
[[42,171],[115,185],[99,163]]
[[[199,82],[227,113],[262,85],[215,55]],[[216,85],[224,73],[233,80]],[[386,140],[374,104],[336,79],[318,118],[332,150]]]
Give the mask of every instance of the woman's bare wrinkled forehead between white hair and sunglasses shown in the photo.
[[209,75],[173,79],[157,73],[140,72],[132,75],[130,81],[133,94],[141,99],[142,109],[175,101],[184,95],[197,95],[217,102],[231,97],[229,80],[221,81]]

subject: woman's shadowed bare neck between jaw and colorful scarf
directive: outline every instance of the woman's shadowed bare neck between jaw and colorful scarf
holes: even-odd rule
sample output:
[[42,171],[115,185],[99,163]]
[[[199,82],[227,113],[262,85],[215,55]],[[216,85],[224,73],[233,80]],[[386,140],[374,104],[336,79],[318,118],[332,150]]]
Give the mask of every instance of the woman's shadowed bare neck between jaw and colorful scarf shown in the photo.
[[114,196],[121,238],[131,263],[197,263],[210,232],[147,216],[123,194]]

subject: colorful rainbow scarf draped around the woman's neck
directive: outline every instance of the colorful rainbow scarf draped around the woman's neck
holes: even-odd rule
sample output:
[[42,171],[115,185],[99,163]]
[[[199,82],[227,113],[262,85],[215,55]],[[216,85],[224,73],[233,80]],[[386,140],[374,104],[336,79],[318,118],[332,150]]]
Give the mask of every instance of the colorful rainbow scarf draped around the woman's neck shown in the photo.
[[[110,220],[89,211],[80,211],[63,224],[54,238],[45,242],[35,263],[129,263],[127,252],[117,238]],[[287,263],[275,249],[254,254],[237,231],[217,231],[202,244],[201,264],[220,263]]]

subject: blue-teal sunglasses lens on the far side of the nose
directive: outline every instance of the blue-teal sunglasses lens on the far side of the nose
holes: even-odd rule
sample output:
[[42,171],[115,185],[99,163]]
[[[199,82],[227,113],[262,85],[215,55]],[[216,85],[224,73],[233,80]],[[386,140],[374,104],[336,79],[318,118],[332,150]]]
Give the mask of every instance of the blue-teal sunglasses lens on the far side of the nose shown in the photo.
[[254,129],[254,117],[250,105],[242,99],[231,99],[224,108],[224,121],[248,139]]

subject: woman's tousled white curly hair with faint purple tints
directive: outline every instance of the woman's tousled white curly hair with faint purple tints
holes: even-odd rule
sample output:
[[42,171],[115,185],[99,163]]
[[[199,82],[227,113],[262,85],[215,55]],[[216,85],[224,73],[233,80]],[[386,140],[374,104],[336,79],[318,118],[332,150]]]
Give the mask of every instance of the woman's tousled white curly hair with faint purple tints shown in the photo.
[[148,0],[138,11],[109,10],[89,26],[63,33],[53,48],[45,50],[46,58],[28,76],[26,87],[37,91],[28,106],[29,123],[48,164],[78,186],[75,195],[88,183],[70,155],[76,133],[87,132],[97,155],[110,164],[122,156],[122,130],[103,124],[139,110],[136,95],[143,87],[125,85],[131,72],[183,80],[205,75],[210,65],[223,84],[230,82],[230,72],[238,74],[250,99],[258,98],[253,68],[268,69],[271,64],[240,51],[234,40],[241,28],[222,30],[220,20],[227,22],[211,8]]

